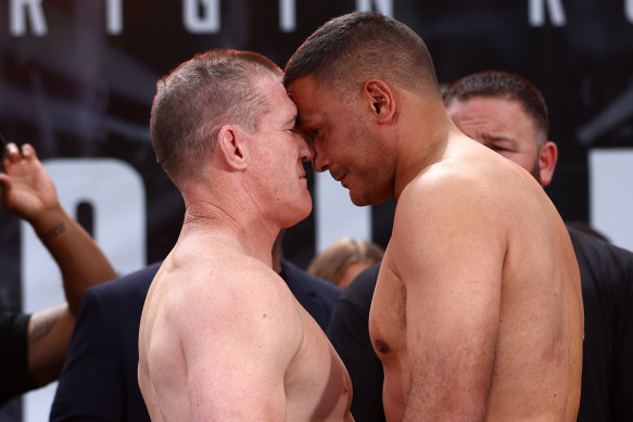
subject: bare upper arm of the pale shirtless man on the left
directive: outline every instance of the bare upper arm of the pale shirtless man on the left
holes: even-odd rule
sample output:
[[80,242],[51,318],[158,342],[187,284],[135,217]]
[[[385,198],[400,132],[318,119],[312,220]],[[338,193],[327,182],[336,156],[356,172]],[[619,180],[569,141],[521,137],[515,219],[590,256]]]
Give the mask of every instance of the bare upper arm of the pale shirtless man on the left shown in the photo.
[[197,322],[183,320],[177,330],[192,420],[286,420],[284,374],[302,341],[300,317],[287,306],[289,292],[283,298],[262,289],[231,297],[212,292],[224,306],[189,306],[187,320]]

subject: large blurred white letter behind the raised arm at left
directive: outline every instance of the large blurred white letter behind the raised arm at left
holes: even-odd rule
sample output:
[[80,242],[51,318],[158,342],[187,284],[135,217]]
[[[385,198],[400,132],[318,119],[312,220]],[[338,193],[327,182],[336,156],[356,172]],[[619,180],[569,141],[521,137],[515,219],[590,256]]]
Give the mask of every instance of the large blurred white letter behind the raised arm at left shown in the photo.
[[[47,159],[45,167],[55,183],[60,203],[77,219],[77,207],[93,209],[92,235],[119,274],[147,264],[145,191],[138,171],[111,158]],[[21,222],[23,309],[46,309],[64,302],[59,267],[33,228]],[[56,384],[25,396],[25,421],[48,420]]]

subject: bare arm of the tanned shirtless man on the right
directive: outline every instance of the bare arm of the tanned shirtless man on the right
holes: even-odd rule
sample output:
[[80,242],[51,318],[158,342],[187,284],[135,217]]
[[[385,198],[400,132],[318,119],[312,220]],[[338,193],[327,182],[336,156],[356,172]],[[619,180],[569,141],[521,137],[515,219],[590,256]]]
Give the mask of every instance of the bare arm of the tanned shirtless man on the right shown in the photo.
[[405,420],[483,417],[505,233],[481,193],[451,182],[413,193],[401,197],[390,244],[390,264],[406,289]]

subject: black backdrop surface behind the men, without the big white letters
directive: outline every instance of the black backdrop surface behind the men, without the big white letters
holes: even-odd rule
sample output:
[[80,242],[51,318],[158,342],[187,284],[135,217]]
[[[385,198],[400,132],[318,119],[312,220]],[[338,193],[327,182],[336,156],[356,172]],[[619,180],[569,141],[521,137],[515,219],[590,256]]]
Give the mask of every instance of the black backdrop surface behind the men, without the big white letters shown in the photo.
[[[147,263],[164,258],[183,212],[149,139],[156,79],[215,47],[258,51],[283,67],[325,21],[366,7],[392,14],[425,39],[442,84],[498,68],[541,88],[549,105],[550,138],[560,149],[547,192],[565,219],[590,218],[588,149],[633,143],[633,0],[26,3],[0,0],[0,131],[9,140],[31,142],[42,159],[113,157],[131,165],[145,189]],[[186,18],[187,4],[197,18]],[[283,4],[294,16],[286,29],[279,17]],[[200,28],[211,22],[213,5],[219,7],[219,28]],[[113,10],[119,18],[109,21]],[[372,208],[372,236],[383,246],[393,208],[393,202]],[[313,215],[284,240],[286,256],[304,268],[315,252],[314,221]],[[4,209],[0,236],[0,305],[17,309],[20,226]],[[121,239],[125,242],[125,233]]]

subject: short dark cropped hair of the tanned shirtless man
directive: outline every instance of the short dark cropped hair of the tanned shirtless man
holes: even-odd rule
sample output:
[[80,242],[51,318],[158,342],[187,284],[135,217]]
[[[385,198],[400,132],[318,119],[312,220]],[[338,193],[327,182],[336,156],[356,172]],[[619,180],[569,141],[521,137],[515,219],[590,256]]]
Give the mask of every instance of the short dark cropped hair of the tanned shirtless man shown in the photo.
[[311,35],[288,61],[283,84],[288,87],[308,75],[346,95],[372,77],[414,92],[429,87],[439,92],[422,39],[405,24],[378,12],[332,18]]

